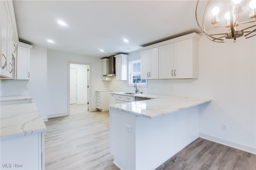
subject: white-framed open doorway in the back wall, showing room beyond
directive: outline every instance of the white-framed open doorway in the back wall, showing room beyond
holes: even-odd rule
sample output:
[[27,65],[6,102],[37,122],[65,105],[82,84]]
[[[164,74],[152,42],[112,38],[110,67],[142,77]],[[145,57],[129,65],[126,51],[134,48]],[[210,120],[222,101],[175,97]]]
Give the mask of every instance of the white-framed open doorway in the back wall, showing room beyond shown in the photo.
[[68,114],[70,105],[87,105],[90,111],[90,63],[68,61]]

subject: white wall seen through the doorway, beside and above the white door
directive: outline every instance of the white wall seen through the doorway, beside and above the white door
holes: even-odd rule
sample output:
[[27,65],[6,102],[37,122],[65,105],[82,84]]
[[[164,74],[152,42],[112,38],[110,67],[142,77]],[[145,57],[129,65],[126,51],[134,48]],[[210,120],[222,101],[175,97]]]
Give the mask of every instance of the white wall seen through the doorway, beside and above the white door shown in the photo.
[[87,65],[70,64],[76,69],[76,104],[87,103]]

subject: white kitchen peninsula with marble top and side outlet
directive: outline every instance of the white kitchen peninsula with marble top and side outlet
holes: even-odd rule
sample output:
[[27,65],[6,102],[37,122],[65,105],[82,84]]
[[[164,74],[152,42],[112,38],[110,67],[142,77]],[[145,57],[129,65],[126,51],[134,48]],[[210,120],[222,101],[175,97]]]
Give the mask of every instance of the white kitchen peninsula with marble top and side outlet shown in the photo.
[[120,169],[155,169],[190,144],[199,137],[199,105],[211,101],[142,96],[155,99],[110,105],[110,153]]

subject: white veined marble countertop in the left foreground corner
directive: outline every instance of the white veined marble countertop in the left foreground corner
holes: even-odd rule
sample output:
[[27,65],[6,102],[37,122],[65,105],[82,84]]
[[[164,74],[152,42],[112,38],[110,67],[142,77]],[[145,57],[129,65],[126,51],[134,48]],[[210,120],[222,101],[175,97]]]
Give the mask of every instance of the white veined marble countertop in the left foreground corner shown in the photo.
[[46,130],[34,103],[1,106],[0,123],[1,140]]

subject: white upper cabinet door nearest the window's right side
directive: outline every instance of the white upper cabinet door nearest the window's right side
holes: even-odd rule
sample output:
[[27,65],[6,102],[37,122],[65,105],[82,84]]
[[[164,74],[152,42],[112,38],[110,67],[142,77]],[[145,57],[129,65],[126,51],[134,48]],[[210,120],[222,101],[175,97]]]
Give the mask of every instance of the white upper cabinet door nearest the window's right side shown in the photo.
[[148,79],[149,63],[150,63],[148,50],[140,52],[140,61],[141,61],[141,79]]

